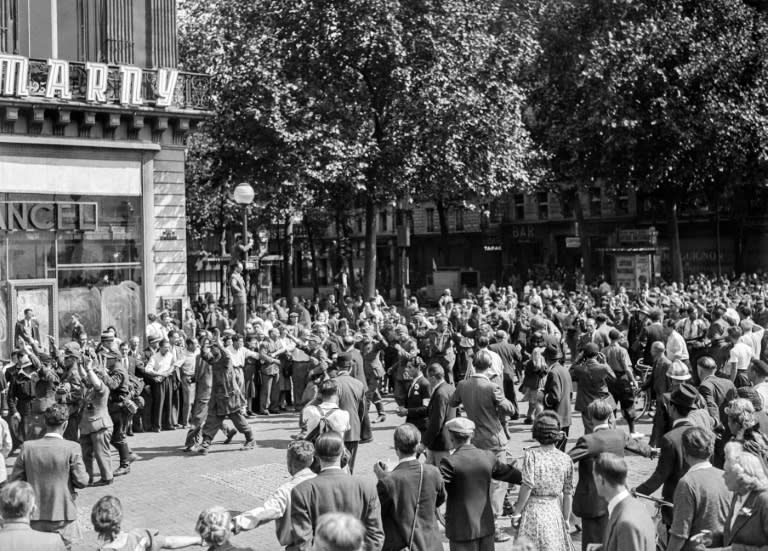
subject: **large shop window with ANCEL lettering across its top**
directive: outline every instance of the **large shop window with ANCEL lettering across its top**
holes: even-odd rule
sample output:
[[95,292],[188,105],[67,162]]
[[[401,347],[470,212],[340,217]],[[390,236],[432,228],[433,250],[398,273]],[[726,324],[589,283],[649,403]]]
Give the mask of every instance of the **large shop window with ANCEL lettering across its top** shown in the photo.
[[[121,339],[142,334],[144,243],[140,197],[0,193],[0,201],[87,204],[81,211],[87,218],[85,230],[61,229],[62,224],[57,222],[51,231],[0,234],[0,275],[4,281],[56,281],[58,319],[54,323],[58,323],[60,343],[70,340],[78,324],[94,340],[98,340],[102,328],[109,326],[115,327]],[[69,209],[64,214],[73,212]],[[63,224],[65,228],[76,225]],[[11,299],[15,298],[4,293],[0,308],[8,312]],[[0,319],[4,321],[6,316]],[[6,338],[7,331],[0,331],[0,339]],[[7,357],[8,343],[0,343],[0,352]]]

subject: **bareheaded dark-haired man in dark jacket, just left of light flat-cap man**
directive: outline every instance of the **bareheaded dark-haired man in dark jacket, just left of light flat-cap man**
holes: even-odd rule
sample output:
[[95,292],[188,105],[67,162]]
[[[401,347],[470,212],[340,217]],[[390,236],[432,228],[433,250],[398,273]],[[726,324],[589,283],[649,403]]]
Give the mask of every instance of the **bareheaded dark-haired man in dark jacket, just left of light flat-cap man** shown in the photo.
[[437,467],[422,465],[416,458],[420,442],[421,432],[415,426],[406,423],[397,427],[397,466],[385,470],[376,463],[373,467],[379,479],[383,551],[443,549],[437,508],[445,501],[445,484]]

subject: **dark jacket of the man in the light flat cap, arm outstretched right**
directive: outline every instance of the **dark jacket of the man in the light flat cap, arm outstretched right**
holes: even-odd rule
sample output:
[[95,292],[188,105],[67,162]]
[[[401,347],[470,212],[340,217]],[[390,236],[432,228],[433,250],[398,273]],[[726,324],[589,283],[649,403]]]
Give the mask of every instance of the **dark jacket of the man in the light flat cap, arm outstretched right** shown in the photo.
[[492,478],[513,484],[523,481],[517,468],[499,461],[494,452],[471,444],[444,458],[440,472],[448,493],[445,535],[451,541],[471,541],[493,534]]

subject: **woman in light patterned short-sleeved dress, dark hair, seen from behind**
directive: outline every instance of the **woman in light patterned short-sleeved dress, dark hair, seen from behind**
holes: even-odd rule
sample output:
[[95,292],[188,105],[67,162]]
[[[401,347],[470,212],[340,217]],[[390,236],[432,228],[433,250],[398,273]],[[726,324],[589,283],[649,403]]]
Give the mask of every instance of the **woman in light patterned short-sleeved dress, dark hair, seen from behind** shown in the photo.
[[533,438],[541,444],[526,450],[523,484],[514,506],[522,515],[518,538],[531,540],[538,551],[572,551],[568,534],[573,498],[573,462],[555,447],[563,437],[560,420],[551,411],[533,424]]

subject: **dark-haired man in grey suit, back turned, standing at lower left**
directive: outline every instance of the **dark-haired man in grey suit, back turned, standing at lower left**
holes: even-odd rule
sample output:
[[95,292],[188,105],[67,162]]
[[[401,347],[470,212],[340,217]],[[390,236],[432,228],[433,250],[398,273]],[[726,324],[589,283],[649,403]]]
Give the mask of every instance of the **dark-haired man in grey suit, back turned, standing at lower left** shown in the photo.
[[[11,481],[29,482],[35,491],[38,505],[32,512],[32,529],[58,532],[67,547],[77,520],[75,488],[88,484],[80,446],[63,438],[68,419],[69,409],[64,404],[49,407],[45,411],[48,432],[39,440],[22,444],[10,477]],[[105,445],[109,447],[108,440]]]

